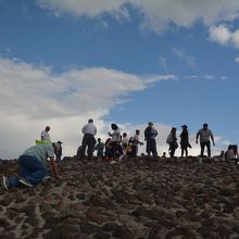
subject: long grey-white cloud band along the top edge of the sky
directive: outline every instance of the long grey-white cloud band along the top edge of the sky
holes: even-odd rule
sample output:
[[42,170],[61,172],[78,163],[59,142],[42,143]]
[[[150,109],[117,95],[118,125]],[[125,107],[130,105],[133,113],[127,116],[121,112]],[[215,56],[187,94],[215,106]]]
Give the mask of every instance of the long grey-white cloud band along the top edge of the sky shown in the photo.
[[77,17],[99,17],[111,14],[117,18],[130,20],[130,9],[141,15],[141,28],[161,33],[171,23],[190,27],[199,20],[210,26],[224,21],[234,21],[239,15],[238,0],[36,0],[41,8],[54,15],[64,13]]

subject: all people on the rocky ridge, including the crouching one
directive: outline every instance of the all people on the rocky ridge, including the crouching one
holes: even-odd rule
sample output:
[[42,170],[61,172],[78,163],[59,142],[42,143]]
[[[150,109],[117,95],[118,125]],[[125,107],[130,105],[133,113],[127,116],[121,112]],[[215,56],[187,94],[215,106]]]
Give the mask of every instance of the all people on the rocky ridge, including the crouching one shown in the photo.
[[[143,142],[139,140],[140,130],[137,129],[135,135],[128,139],[127,134],[121,134],[121,129],[116,124],[111,125],[112,131],[109,133],[109,138],[105,143],[101,142],[101,139],[96,140],[97,127],[93,124],[93,120],[90,118],[88,124],[81,128],[84,134],[81,146],[78,148],[77,155],[84,158],[86,155],[91,158],[93,151],[97,150],[97,156],[101,156],[112,163],[115,163],[116,160],[121,161],[125,155],[137,156],[138,147],[142,146]],[[189,142],[189,134],[187,125],[181,126],[183,130],[180,134],[180,148],[181,156],[184,154],[188,156],[188,148],[191,148]],[[34,187],[35,185],[42,181],[48,175],[49,171],[47,169],[47,159],[50,159],[51,168],[53,175],[56,179],[62,179],[62,176],[59,172],[58,162],[61,161],[62,155],[62,142],[51,142],[49,135],[50,127],[47,126],[45,130],[41,131],[41,140],[36,140],[36,144],[27,149],[18,158],[18,167],[21,172],[21,178],[2,176],[2,184],[8,190],[9,188],[18,187],[24,185],[27,187]],[[169,135],[167,136],[166,142],[169,144],[169,155],[174,156],[176,149],[178,148],[177,143],[177,129],[172,128]],[[156,151],[156,140],[158,130],[154,128],[153,123],[149,122],[147,128],[144,129],[144,141],[146,141],[146,152],[150,156],[158,156]],[[201,156],[204,154],[204,149],[207,149],[207,156],[211,156],[211,140],[213,144],[214,137],[212,131],[209,129],[207,124],[203,124],[203,127],[197,133],[196,143],[200,139],[201,147]],[[54,160],[54,155],[56,161]],[[238,158],[237,146],[229,146],[225,155],[228,159]],[[163,153],[165,158],[165,152]]]

